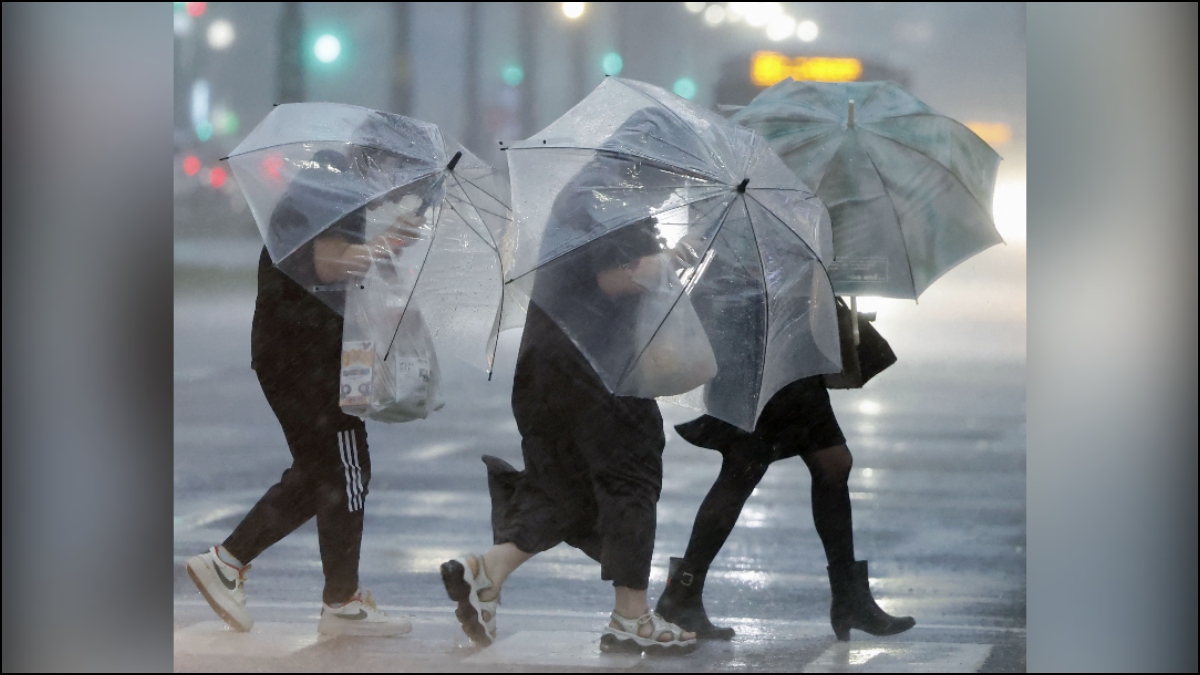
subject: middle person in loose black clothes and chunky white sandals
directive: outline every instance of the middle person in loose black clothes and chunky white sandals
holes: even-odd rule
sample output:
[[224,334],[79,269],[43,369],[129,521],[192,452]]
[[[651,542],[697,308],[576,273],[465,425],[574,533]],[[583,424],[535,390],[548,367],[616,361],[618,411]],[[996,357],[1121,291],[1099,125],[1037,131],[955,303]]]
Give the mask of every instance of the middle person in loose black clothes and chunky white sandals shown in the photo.
[[[643,133],[658,121],[654,114],[632,115],[617,136]],[[611,181],[612,168],[604,156],[594,159],[559,192],[550,219],[563,239],[600,229],[590,186]],[[653,180],[638,166],[624,177],[631,185]],[[512,389],[526,468],[517,472],[485,458],[496,545],[440,568],[463,631],[479,644],[496,640],[508,577],[565,542],[600,562],[601,579],[614,587],[601,649],[690,651],[696,645],[694,633],[664,621],[647,597],[666,443],[658,404],[612,394],[596,372],[634,358],[637,310],[647,291],[641,280],[654,277],[662,264],[655,226],[654,217],[623,226],[538,270]],[[506,484],[505,495],[497,494],[497,482]]]

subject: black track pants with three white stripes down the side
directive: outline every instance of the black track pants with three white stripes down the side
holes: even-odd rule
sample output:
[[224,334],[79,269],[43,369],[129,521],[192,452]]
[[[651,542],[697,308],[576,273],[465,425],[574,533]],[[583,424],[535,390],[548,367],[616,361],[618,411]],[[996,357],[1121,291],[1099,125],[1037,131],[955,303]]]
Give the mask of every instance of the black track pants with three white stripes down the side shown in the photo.
[[319,369],[259,366],[258,381],[292,452],[292,466],[222,544],[242,563],[317,518],[325,603],[359,584],[362,508],[371,482],[366,425],[337,405],[337,362]]

